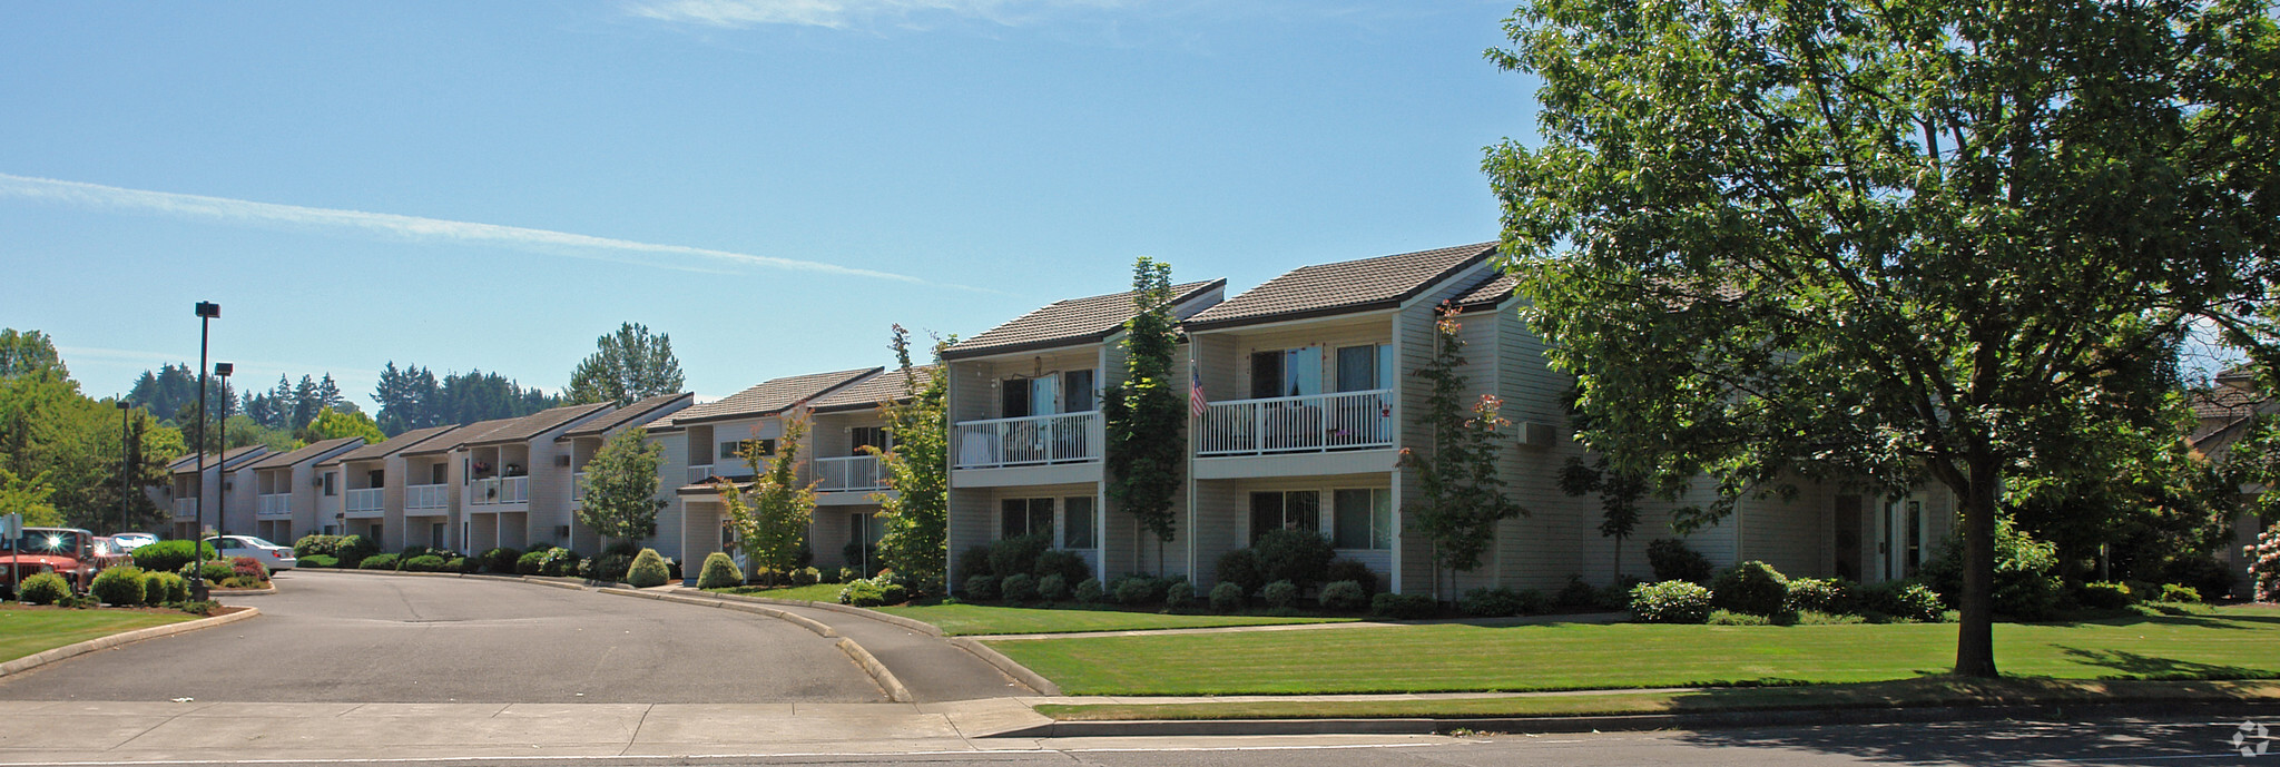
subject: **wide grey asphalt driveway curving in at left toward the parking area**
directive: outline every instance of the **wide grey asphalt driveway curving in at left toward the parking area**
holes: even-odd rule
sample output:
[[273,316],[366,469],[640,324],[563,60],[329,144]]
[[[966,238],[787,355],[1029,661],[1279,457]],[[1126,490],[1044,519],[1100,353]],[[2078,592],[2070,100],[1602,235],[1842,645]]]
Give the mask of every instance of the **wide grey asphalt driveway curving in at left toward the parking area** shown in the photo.
[[782,619],[477,578],[280,573],[262,616],[0,678],[0,701],[878,703]]

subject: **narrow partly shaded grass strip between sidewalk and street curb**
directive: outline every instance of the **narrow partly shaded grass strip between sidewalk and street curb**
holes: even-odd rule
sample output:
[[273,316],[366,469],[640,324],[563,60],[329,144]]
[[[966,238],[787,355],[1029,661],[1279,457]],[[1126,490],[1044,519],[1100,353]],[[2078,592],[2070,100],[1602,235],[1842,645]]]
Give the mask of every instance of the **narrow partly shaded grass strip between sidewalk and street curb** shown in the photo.
[[1961,680],[1915,678],[1895,683],[1815,687],[1717,687],[1694,692],[1534,694],[1503,699],[1430,701],[1236,701],[1236,703],[1044,703],[1040,714],[1060,721],[1133,719],[1466,719],[1466,717],[1623,717],[1744,710],[1833,710],[1911,705],[2018,703],[2269,703],[2273,680]]

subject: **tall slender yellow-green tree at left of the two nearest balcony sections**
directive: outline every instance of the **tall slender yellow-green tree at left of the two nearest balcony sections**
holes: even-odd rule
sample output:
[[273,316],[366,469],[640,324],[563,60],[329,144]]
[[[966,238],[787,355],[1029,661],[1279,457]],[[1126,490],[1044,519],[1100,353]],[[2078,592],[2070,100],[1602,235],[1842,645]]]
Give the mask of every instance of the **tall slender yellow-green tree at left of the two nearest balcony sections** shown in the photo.
[[[935,365],[910,363],[910,333],[894,326],[894,361],[903,370],[903,399],[880,404],[894,445],[878,457],[880,477],[894,493],[878,495],[885,534],[878,555],[889,568],[923,589],[948,594],[951,557],[951,409],[948,377],[942,372],[942,347]],[[869,573],[866,573],[869,575]]]

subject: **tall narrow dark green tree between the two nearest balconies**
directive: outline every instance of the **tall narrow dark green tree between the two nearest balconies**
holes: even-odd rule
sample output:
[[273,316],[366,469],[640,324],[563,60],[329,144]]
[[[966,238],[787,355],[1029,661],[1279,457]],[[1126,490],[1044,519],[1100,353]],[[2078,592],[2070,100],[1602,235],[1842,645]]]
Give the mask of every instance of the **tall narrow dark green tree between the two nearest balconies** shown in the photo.
[[1179,317],[1172,315],[1172,265],[1140,256],[1133,263],[1133,317],[1124,322],[1124,381],[1108,388],[1101,420],[1108,431],[1108,498],[1156,539],[1156,573],[1179,530],[1174,502],[1188,468],[1183,397],[1188,381],[1172,370]]

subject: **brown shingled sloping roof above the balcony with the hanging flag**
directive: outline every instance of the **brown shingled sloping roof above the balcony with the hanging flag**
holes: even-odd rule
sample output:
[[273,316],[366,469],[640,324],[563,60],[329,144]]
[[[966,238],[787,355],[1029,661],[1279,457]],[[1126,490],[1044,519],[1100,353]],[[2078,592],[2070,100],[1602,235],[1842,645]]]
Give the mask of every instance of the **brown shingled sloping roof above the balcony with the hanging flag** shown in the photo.
[[1489,256],[1496,242],[1297,267],[1188,317],[1188,329],[1395,308]]

